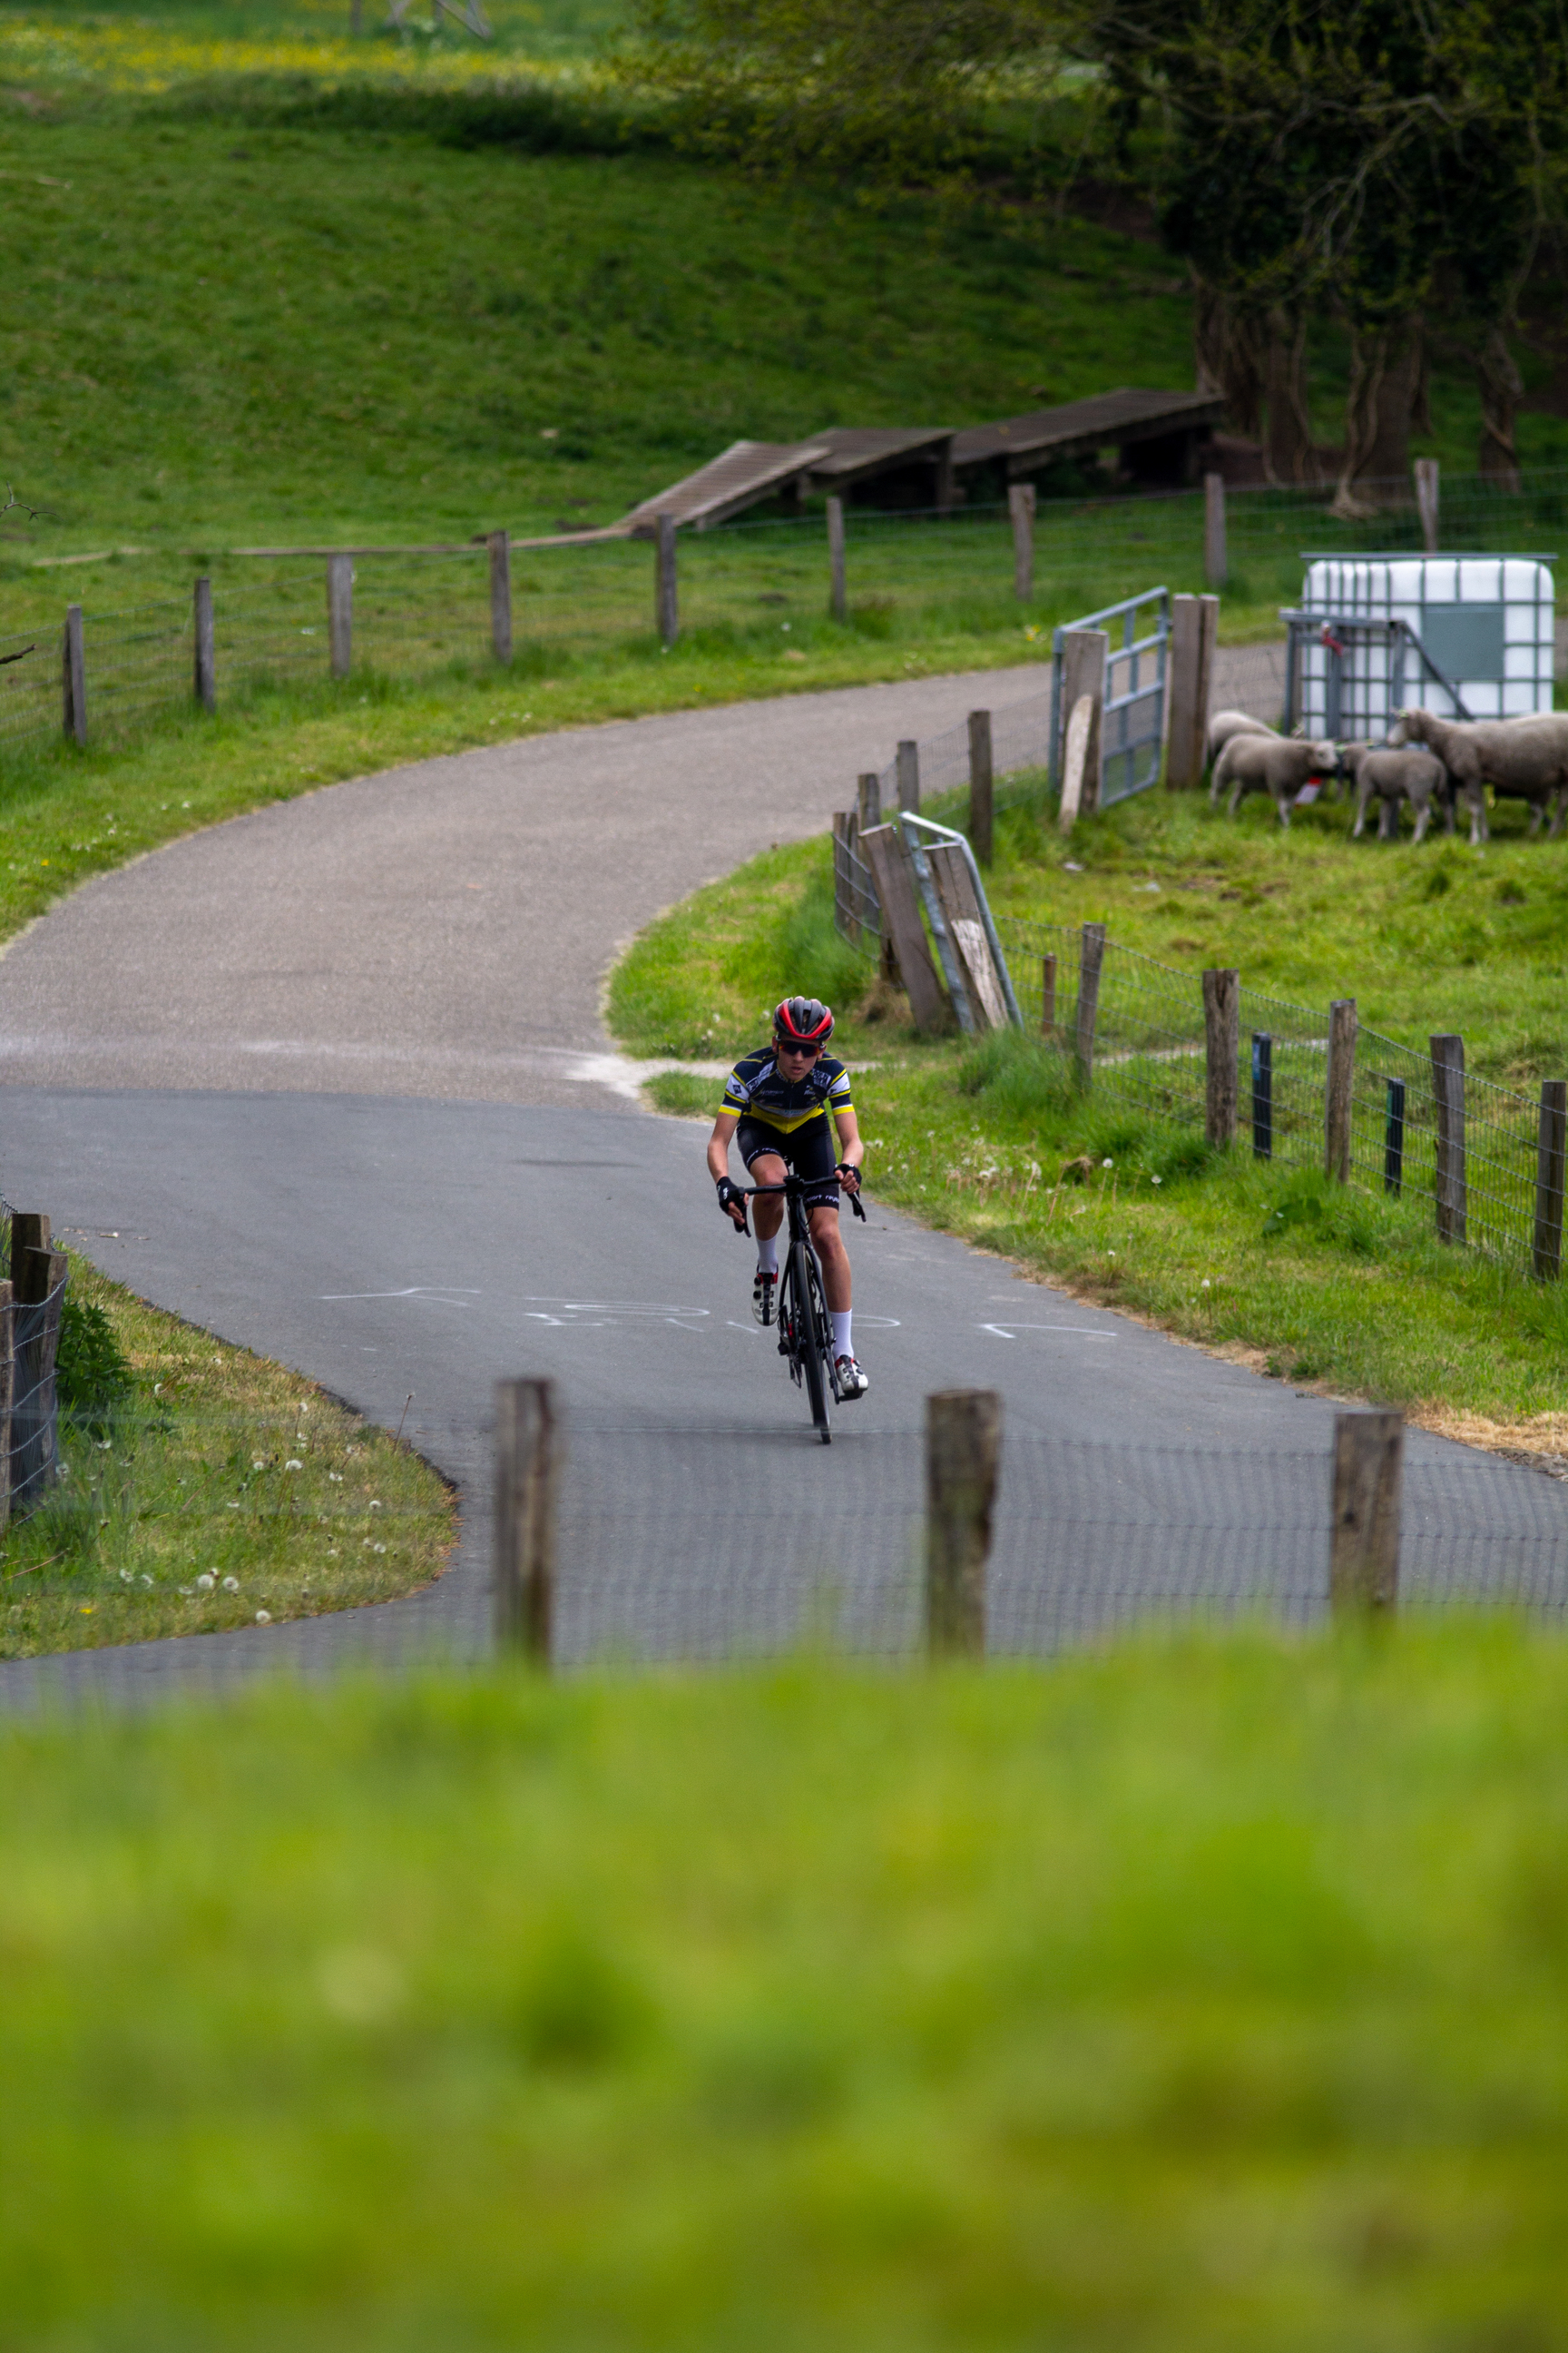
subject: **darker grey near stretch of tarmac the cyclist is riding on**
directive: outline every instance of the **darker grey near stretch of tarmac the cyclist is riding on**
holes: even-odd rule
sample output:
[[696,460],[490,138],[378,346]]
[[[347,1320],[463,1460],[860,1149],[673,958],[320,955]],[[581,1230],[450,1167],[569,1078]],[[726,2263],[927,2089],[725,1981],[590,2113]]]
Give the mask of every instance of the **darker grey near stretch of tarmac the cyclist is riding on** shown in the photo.
[[[750,1322],[750,1254],[701,1172],[703,1129],[331,1094],[5,1101],[7,1169],[108,1273],[313,1372],[411,1433],[463,1489],[428,1593],[301,1626],[0,1666],[40,1692],[158,1697],[172,1678],[334,1668],[487,1642],[496,1377],[569,1407],[562,1652],[705,1657],[823,1617],[907,1645],[931,1388],[1006,1398],[994,1640],[1051,1647],[1204,1595],[1321,1609],[1333,1409],[1016,1278],[872,1202],[853,1228],[872,1393],[820,1447]],[[1406,1577],[1568,1598],[1566,1489],[1413,1435]]]

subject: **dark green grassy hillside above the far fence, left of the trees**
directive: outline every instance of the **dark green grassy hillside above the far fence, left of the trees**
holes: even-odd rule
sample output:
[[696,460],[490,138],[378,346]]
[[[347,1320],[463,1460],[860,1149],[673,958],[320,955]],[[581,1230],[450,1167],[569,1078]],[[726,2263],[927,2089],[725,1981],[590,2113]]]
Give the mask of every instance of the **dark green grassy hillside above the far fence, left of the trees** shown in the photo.
[[682,158],[585,64],[609,5],[346,21],[0,12],[5,558],[607,522],[736,435],[1192,379],[1154,245]]

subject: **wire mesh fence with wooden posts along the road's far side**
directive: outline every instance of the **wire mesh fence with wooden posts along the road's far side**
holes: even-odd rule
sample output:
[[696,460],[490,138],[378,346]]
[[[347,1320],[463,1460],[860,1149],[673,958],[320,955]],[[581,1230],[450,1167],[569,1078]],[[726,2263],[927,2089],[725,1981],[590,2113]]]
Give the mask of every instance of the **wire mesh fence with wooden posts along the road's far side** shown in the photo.
[[[1333,508],[1328,485],[1246,489],[1227,501],[1232,602],[1276,607],[1300,595],[1302,555],[1356,553],[1368,534],[1385,551],[1420,548],[1422,522],[1408,482],[1361,485],[1366,513]],[[1568,468],[1526,478],[1512,494],[1493,482],[1443,485],[1443,546],[1507,546],[1552,553],[1568,529]],[[863,638],[945,631],[954,635],[1020,633],[1048,649],[1046,614],[1088,612],[1107,593],[1161,579],[1171,588],[1206,586],[1204,501],[1194,492],[1048,499],[1032,525],[1032,591],[1016,593],[1013,518],[1001,504],[947,513],[849,508],[846,614]],[[226,558],[214,576],[214,652],[219,699],[235,687],[275,680],[308,682],[331,671],[331,633],[322,558],[259,558],[235,574]],[[541,664],[658,647],[656,555],[646,539],[585,536],[562,544],[520,541],[510,551],[512,649]],[[710,647],[773,647],[825,626],[830,551],[823,518],[738,520],[679,539],[679,631]],[[87,732],[120,734],[153,725],[190,704],[193,616],[186,600],[143,602],[125,612],[85,609]],[[353,664],[393,678],[425,678],[454,664],[491,659],[487,546],[371,551],[353,558]],[[1121,656],[1117,656],[1121,659]],[[1140,656],[1154,659],[1154,656]],[[1112,699],[1131,689],[1128,744],[1152,741],[1147,678],[1112,678]],[[1215,704],[1234,704],[1276,722],[1286,706],[1284,649],[1222,649]],[[61,616],[0,638],[0,746],[45,741],[61,732]],[[999,774],[1044,765],[1051,713],[1016,706],[997,725],[1018,744],[997,746]],[[922,746],[926,788],[943,791],[964,758],[961,744]],[[1121,760],[1121,765],[1119,765]],[[1110,746],[1107,795],[1143,767]],[[1128,776],[1121,779],[1121,767]]]

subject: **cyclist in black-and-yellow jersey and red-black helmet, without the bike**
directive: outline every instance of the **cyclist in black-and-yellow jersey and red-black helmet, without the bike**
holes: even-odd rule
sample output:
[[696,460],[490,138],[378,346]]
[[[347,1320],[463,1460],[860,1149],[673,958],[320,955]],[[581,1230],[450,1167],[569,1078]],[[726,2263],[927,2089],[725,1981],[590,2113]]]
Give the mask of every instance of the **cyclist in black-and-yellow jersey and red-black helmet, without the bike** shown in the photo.
[[[785,998],[773,1012],[773,1045],[748,1054],[724,1082],[724,1108],[708,1139],[708,1174],[719,1188],[719,1209],[745,1233],[745,1195],[729,1181],[729,1139],[741,1144],[741,1158],[752,1184],[783,1184],[785,1169],[811,1181],[806,1219],[823,1268],[823,1292],[832,1315],[832,1358],[842,1398],[863,1398],[872,1386],[851,1346],[849,1252],[839,1235],[839,1186],[860,1191],[860,1127],[849,1099],[849,1071],[827,1054],[832,1012],[816,998]],[[832,1155],[832,1127],[839,1129],[842,1160]],[[778,1228],[783,1193],[764,1193],[752,1202],[757,1217],[757,1280],[752,1315],[773,1322],[778,1287]]]

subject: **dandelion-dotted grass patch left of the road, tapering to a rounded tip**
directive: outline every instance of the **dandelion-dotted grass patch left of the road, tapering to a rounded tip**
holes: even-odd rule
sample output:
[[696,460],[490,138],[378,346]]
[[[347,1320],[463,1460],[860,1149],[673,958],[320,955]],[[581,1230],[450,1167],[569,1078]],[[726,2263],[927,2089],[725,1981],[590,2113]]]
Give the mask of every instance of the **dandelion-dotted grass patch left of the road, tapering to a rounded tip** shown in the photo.
[[388,1431],[75,1254],[68,1299],[108,1334],[110,1377],[61,1417],[63,1478],[5,1537],[0,1659],[320,1617],[440,1577],[451,1494]]

